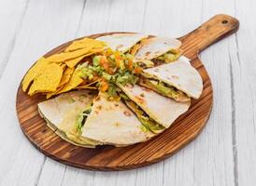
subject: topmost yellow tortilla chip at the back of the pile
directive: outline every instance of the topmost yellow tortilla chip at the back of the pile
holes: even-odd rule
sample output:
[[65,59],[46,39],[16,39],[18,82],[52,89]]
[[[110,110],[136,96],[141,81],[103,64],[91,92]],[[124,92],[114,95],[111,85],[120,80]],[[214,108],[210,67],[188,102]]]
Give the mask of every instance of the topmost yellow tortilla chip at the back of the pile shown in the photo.
[[65,48],[64,52],[72,52],[84,47],[104,47],[106,46],[104,42],[98,41],[95,39],[90,39],[90,38],[83,38],[78,41],[74,41],[70,46]]

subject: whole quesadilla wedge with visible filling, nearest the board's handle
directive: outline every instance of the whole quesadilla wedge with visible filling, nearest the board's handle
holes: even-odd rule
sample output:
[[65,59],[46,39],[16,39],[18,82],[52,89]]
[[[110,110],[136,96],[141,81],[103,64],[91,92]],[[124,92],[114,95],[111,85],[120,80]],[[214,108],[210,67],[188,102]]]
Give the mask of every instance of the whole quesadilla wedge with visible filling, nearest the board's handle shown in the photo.
[[149,68],[178,60],[181,55],[181,42],[167,37],[151,37],[135,53],[136,62]]

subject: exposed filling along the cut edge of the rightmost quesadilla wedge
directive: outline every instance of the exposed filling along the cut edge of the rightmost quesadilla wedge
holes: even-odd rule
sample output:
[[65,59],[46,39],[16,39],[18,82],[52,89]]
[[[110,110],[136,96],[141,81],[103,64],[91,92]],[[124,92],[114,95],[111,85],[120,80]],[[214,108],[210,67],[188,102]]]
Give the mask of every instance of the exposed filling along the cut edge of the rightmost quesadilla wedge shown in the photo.
[[169,86],[164,82],[153,79],[153,78],[145,78],[142,76],[139,80],[139,85],[146,86],[149,89],[152,89],[160,93],[161,95],[174,100],[178,100],[178,101],[190,100],[190,98],[185,93],[178,90],[175,86]]

